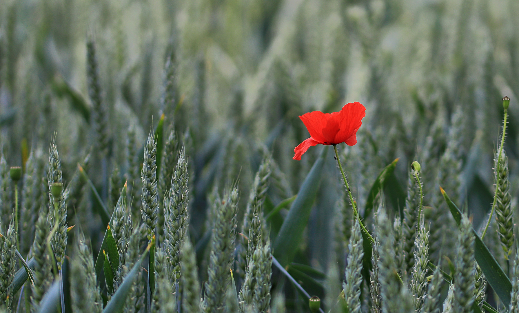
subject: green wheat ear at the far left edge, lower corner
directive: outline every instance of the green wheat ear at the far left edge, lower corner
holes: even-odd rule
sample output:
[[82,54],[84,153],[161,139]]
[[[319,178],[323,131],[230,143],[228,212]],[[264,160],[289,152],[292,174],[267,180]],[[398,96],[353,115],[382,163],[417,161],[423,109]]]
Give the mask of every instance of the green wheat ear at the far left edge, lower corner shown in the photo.
[[0,306],[7,310],[13,300],[9,287],[15,278],[17,233],[13,221],[7,232],[0,236]]

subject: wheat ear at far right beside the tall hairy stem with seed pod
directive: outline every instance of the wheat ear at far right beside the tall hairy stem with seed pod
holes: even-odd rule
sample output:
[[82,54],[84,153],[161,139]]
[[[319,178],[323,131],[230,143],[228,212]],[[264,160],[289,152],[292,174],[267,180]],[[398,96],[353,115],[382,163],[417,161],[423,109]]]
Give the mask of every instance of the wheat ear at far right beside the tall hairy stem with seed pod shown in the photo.
[[512,196],[510,195],[510,181],[508,180],[508,156],[502,151],[501,160],[498,154],[494,160],[494,182],[496,193],[496,222],[497,233],[503,248],[504,258],[508,260],[512,254],[514,244]]

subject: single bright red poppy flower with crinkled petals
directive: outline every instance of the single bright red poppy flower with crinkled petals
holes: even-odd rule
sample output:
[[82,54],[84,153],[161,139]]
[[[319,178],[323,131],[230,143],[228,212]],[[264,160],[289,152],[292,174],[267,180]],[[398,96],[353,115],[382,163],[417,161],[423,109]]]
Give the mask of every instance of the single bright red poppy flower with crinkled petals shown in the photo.
[[339,112],[313,111],[299,116],[308,129],[310,138],[295,147],[293,159],[301,160],[308,148],[317,144],[357,144],[357,131],[364,116],[366,108],[360,102],[348,103]]

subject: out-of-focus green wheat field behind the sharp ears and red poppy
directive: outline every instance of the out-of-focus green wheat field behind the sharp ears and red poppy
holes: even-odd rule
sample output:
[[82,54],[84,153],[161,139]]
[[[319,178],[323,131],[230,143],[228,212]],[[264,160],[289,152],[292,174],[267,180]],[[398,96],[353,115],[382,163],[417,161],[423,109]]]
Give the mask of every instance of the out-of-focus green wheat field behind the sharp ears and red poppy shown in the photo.
[[[239,179],[243,214],[263,155],[274,158],[266,206],[297,193],[323,148],[292,159],[308,138],[298,115],[360,101],[367,110],[358,144],[339,146],[359,207],[395,158],[388,207],[403,207],[413,160],[422,164],[426,205],[433,205],[450,143],[461,185],[447,192],[460,195],[477,228],[492,200],[503,96],[512,99],[505,149],[517,201],[518,13],[514,0],[2,0],[3,153],[16,166],[24,149],[39,147],[45,160],[55,134],[66,182],[93,151],[89,175],[106,200],[108,176],[124,183],[127,174],[128,133],[142,147],[164,113],[167,129],[188,142],[197,243],[215,188]],[[87,40],[97,49],[106,164],[95,154]],[[136,152],[142,159],[142,148]],[[332,155],[296,257],[321,271],[343,193]],[[92,196],[82,201],[86,212],[99,206]],[[103,226],[92,216],[84,227],[95,237]]]

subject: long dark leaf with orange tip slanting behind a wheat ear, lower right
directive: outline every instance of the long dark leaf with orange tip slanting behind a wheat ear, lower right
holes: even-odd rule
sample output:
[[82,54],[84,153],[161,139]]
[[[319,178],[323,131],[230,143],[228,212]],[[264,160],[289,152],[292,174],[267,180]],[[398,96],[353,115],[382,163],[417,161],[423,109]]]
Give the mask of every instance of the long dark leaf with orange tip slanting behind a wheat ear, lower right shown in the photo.
[[[461,211],[456,207],[453,201],[450,200],[445,190],[440,187],[440,190],[445,198],[445,202],[447,202],[447,206],[449,207],[450,213],[452,213],[454,220],[458,224],[461,223]],[[483,274],[485,275],[486,280],[490,284],[490,287],[496,292],[499,296],[501,302],[505,307],[510,305],[510,292],[512,291],[512,283],[506,274],[504,274],[503,269],[499,266],[494,256],[490,253],[487,246],[481,240],[480,236],[477,235],[474,228],[472,228],[472,232],[475,237],[475,251],[474,257],[476,259],[477,264],[481,267]]]

